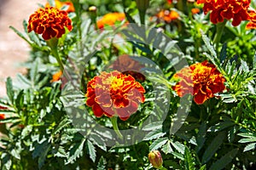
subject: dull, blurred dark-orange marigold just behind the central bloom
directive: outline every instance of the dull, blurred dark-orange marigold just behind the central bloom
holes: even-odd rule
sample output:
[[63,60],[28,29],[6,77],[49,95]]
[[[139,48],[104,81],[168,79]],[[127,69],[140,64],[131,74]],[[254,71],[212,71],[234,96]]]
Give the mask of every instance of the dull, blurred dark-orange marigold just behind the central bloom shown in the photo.
[[120,71],[125,75],[131,75],[138,81],[145,81],[144,75],[140,73],[140,70],[144,68],[144,65],[140,64],[135,59],[131,59],[128,54],[120,55],[109,68],[112,68],[115,71]]

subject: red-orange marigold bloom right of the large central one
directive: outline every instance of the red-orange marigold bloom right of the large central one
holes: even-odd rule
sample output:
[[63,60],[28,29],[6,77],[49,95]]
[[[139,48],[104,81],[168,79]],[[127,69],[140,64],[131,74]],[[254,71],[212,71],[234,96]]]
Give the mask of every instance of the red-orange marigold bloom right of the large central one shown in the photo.
[[178,78],[173,89],[180,97],[185,94],[193,94],[196,104],[201,105],[214,94],[223,92],[225,79],[215,65],[204,61],[196,63],[178,71],[174,78]]

